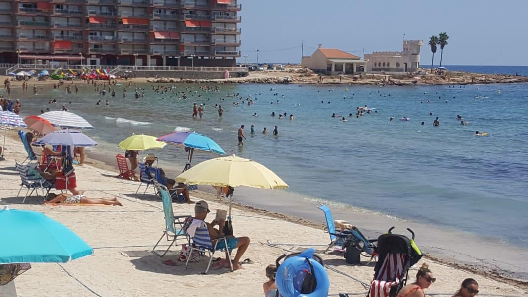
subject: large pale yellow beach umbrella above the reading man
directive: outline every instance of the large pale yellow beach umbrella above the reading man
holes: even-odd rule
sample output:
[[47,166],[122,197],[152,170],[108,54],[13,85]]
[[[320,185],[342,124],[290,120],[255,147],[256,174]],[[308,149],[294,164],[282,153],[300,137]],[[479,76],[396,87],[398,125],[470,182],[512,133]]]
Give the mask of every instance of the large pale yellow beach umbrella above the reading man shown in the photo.
[[[178,183],[210,185],[218,187],[252,187],[260,189],[286,189],[288,185],[268,167],[251,159],[235,155],[200,162],[178,177]],[[231,202],[229,199],[229,223],[231,224]]]

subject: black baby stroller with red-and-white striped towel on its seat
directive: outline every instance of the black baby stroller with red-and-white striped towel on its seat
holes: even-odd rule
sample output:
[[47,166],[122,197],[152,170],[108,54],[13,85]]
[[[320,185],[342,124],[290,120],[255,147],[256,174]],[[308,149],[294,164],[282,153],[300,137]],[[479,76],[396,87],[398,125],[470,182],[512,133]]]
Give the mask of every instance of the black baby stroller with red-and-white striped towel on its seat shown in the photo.
[[378,263],[374,267],[374,280],[367,297],[395,297],[407,283],[409,268],[420,261],[422,252],[412,239],[391,234],[392,229],[378,238]]

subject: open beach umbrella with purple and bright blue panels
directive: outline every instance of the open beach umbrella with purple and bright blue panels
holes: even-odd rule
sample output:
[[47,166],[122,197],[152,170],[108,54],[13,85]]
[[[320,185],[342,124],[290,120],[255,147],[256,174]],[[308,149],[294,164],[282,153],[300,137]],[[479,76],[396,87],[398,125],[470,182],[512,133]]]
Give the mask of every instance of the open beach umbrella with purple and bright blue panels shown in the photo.
[[190,148],[189,156],[187,158],[187,164],[185,164],[185,170],[191,168],[191,160],[193,158],[194,149],[212,151],[215,154],[224,155],[225,151],[214,142],[211,138],[195,133],[195,132],[176,132],[171,133],[165,136],[162,136],[157,139],[158,141],[163,141],[171,143],[172,145],[183,146]]

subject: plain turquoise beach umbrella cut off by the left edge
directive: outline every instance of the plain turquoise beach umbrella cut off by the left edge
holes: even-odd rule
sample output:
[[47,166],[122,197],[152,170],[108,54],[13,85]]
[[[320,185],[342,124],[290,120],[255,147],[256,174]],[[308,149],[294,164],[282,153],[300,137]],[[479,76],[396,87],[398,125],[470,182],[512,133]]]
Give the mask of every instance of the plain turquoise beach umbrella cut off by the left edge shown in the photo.
[[33,210],[0,210],[0,264],[66,263],[93,248],[61,223]]

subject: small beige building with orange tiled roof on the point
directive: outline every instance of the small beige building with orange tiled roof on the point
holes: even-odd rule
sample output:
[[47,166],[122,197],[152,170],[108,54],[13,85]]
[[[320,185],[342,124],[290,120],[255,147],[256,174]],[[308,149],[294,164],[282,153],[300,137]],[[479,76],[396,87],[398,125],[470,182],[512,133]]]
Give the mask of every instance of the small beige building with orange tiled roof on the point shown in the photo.
[[327,74],[355,74],[365,71],[366,62],[359,56],[338,49],[324,49],[319,44],[311,56],[303,56],[301,66]]

